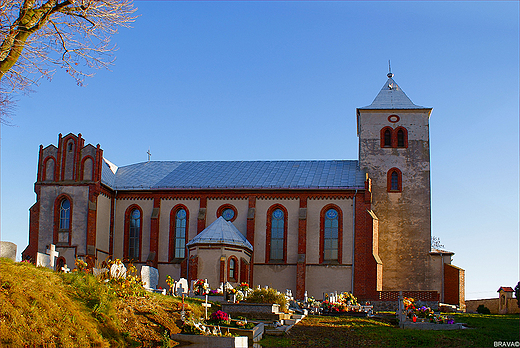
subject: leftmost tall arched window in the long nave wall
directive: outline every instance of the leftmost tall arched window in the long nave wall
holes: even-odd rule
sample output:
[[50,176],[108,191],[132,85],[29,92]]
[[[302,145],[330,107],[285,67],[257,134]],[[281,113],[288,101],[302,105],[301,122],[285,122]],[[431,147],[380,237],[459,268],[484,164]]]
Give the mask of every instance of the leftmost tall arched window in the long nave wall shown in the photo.
[[132,205],[125,212],[125,245],[123,257],[140,261],[142,244],[142,216],[138,205]]

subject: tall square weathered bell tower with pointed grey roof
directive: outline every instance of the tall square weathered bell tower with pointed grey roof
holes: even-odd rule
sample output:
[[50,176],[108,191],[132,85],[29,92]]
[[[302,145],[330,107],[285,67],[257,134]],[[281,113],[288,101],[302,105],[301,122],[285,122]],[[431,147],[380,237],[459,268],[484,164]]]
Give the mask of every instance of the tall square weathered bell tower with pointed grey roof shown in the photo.
[[431,290],[429,118],[388,73],[372,104],[358,108],[359,165],[372,179],[383,290]]

